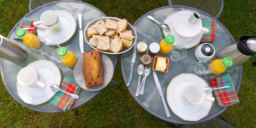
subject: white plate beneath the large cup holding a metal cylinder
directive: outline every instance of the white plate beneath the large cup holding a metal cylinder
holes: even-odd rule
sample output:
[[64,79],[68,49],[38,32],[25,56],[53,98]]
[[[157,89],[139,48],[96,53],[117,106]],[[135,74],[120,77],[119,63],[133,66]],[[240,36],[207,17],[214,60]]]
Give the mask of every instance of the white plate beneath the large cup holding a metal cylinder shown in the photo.
[[201,41],[202,37],[203,37],[203,33],[200,32],[197,36],[194,37],[190,37],[190,38],[184,38],[182,36],[179,36],[172,28],[172,19],[174,17],[174,15],[177,12],[174,12],[172,14],[170,14],[169,16],[166,17],[166,19],[164,20],[164,24],[167,24],[170,27],[170,32],[163,30],[164,36],[171,34],[174,36],[175,41],[174,41],[174,45],[180,44],[182,46],[184,46],[186,49],[188,48],[192,48],[194,46],[196,46],[197,44],[199,44],[199,42]]

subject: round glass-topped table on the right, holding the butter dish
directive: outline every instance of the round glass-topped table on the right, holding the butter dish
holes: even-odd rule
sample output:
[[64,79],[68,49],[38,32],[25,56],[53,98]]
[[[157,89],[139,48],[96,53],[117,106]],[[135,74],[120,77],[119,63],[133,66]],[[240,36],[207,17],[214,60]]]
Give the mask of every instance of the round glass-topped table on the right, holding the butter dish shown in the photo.
[[[172,14],[173,12],[181,11],[181,10],[190,10],[193,12],[198,12],[202,16],[202,18],[214,19],[214,17],[210,16],[206,12],[203,12],[202,10],[198,10],[198,9],[187,7],[187,6],[164,6],[161,8],[157,8],[155,10],[152,10],[144,14],[133,24],[137,32],[137,42],[146,42],[149,46],[150,43],[152,42],[159,43],[164,38],[164,34],[162,33],[162,29],[160,28],[160,26],[158,26],[158,24],[156,24],[155,22],[149,20],[147,18],[148,15],[154,17],[159,22],[164,22],[164,19],[169,14]],[[216,20],[215,41],[211,43],[214,46],[215,50],[218,51],[221,48],[227,46],[228,44],[231,44],[232,42],[234,42],[234,38],[232,37],[230,32],[228,32],[228,30],[218,20]],[[172,78],[182,73],[193,72],[191,70],[191,67],[195,66],[198,62],[198,60],[194,55],[195,48],[196,46],[193,48],[187,49],[188,53],[186,58],[184,58],[183,60],[180,60],[178,63],[173,63],[172,61],[170,61],[168,73],[156,72],[160,85],[162,87],[162,92],[164,94],[165,100],[166,100],[166,88],[170,83],[170,81],[172,80]],[[170,53],[166,55],[158,54],[158,56],[165,56],[169,58]],[[212,60],[214,59],[215,57]],[[122,54],[121,67],[122,67],[122,74],[124,77],[124,81],[126,82],[126,84],[129,80],[131,60],[132,60],[132,50],[130,50],[130,52]],[[138,77],[139,77],[137,73],[139,64],[140,64],[140,60],[138,57],[136,57],[132,82],[130,86],[128,86],[128,90],[130,91],[134,99],[140,104],[140,106],[142,106],[142,108],[146,109],[148,112],[150,112],[160,120],[179,123],[179,124],[199,123],[199,122],[204,122],[206,120],[210,120],[218,116],[220,113],[222,113],[224,110],[228,108],[228,107],[220,108],[216,106],[215,103],[213,103],[212,108],[210,109],[210,112],[208,113],[207,116],[205,116],[201,120],[191,122],[191,121],[182,120],[171,111],[170,107],[168,107],[171,117],[167,118],[164,111],[163,104],[162,104],[162,100],[160,98],[158,90],[156,89],[156,84],[154,82],[152,72],[146,79],[144,94],[139,95],[138,97],[135,96],[135,92],[138,84]],[[151,64],[151,68],[152,68],[152,64]],[[229,69],[225,73],[230,74],[234,87],[236,88],[236,92],[238,92],[241,84],[241,79],[242,79],[242,66]],[[208,76],[211,76],[211,75],[202,75],[201,77],[204,80],[206,80],[206,82],[208,82],[208,85],[210,85]],[[166,104],[167,104],[167,101],[166,101]]]

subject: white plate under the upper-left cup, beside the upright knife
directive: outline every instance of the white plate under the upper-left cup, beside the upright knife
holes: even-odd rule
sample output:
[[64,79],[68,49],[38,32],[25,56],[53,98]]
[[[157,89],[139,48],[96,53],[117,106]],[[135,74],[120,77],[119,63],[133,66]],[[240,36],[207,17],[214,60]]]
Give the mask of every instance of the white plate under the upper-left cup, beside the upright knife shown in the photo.
[[65,10],[54,10],[60,18],[62,30],[57,33],[52,33],[47,29],[37,29],[38,36],[44,38],[47,44],[57,43],[62,44],[68,41],[76,31],[76,19],[74,16]]

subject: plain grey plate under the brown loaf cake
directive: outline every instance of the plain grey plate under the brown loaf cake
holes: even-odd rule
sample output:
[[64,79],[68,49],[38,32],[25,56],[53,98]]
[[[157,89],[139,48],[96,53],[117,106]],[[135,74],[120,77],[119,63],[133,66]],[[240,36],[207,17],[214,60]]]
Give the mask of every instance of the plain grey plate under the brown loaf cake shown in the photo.
[[98,91],[105,88],[112,80],[114,74],[114,66],[112,61],[107,55],[101,54],[101,65],[103,67],[103,83],[100,86],[86,87],[84,79],[84,56],[81,56],[74,67],[74,78],[76,83],[87,91]]

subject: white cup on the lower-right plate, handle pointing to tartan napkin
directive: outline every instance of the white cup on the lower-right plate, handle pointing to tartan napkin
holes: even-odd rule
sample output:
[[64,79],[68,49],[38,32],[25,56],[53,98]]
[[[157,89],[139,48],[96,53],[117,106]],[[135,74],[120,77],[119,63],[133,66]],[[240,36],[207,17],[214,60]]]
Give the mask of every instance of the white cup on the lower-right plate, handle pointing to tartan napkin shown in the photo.
[[202,104],[205,100],[214,101],[214,97],[206,96],[204,88],[198,84],[187,86],[182,94],[182,98],[192,105]]

